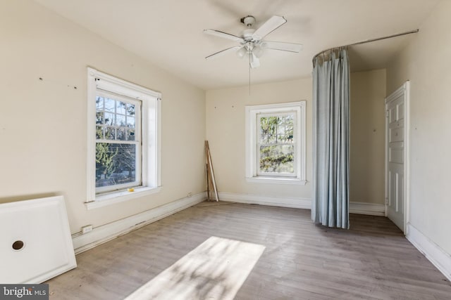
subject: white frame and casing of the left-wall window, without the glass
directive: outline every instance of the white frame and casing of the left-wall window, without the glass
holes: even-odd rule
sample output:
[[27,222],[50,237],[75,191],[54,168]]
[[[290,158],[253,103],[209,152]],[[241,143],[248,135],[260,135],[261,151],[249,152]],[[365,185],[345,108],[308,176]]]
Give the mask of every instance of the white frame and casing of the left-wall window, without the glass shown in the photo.
[[[126,186],[111,193],[97,193],[96,176],[96,96],[98,91],[113,93],[140,101],[142,152],[140,172],[142,184],[128,191]],[[161,190],[160,131],[161,93],[118,79],[91,67],[87,68],[87,209],[123,202]],[[139,171],[138,168],[136,171]]]

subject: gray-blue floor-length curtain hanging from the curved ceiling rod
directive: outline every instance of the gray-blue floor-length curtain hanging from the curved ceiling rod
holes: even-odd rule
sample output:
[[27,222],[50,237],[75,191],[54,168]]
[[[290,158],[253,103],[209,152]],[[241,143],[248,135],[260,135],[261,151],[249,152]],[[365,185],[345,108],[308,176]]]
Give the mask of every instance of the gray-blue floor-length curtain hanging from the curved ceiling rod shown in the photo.
[[350,66],[347,51],[313,70],[314,174],[311,219],[347,228],[349,221]]

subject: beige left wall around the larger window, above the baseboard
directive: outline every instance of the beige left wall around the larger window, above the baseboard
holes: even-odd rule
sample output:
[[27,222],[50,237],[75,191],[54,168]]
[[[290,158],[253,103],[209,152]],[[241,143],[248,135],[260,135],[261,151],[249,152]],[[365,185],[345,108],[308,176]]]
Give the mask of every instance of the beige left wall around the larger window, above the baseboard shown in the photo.
[[[75,233],[204,190],[204,91],[33,1],[1,1],[0,40],[0,202],[63,195]],[[87,66],[161,91],[161,193],[87,211]]]

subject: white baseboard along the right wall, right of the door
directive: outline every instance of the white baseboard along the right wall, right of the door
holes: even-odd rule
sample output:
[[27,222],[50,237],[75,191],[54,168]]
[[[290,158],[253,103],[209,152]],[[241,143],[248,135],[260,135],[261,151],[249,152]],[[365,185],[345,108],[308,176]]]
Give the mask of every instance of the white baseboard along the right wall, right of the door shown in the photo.
[[411,223],[407,223],[406,237],[419,252],[426,256],[426,259],[431,261],[431,263],[445,275],[447,280],[451,281],[451,254],[446,253],[438,246],[438,244],[429,240],[426,235],[412,226]]

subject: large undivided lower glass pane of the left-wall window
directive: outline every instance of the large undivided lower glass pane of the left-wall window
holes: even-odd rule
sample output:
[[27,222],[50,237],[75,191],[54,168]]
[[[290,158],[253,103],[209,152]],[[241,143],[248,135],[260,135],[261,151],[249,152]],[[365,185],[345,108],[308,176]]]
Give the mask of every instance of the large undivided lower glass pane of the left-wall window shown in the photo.
[[135,181],[136,145],[96,143],[96,187]]

